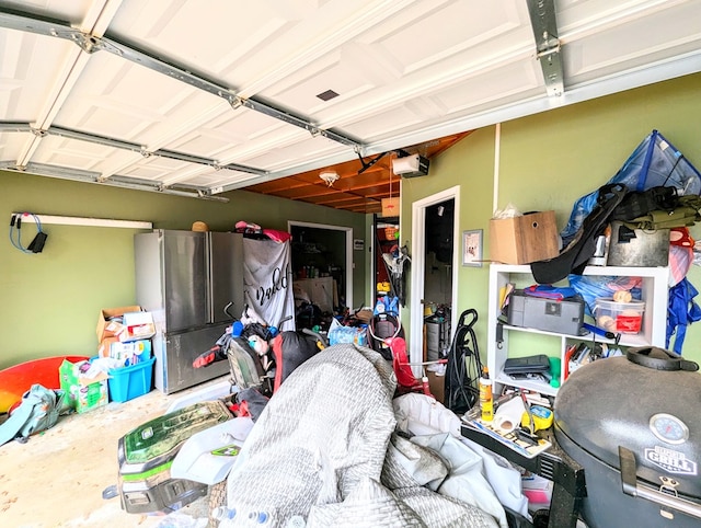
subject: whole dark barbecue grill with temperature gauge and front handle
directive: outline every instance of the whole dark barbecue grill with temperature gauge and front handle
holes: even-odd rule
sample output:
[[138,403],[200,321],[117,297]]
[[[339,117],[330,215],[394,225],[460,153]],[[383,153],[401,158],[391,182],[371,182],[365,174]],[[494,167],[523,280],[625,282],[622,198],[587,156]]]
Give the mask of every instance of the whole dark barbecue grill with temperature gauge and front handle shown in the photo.
[[589,528],[701,526],[701,375],[669,351],[629,349],[574,371],[554,435],[584,468]]

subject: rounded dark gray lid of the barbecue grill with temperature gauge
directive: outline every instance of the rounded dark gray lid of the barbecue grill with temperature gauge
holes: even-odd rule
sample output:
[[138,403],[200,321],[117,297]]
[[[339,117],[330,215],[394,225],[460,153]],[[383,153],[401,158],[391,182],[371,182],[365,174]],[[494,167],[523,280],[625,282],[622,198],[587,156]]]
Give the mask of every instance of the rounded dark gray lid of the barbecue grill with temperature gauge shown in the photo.
[[698,369],[655,347],[578,368],[558,392],[555,437],[565,435],[617,470],[624,447],[634,454],[642,481],[659,486],[663,478],[673,478],[680,494],[701,497]]

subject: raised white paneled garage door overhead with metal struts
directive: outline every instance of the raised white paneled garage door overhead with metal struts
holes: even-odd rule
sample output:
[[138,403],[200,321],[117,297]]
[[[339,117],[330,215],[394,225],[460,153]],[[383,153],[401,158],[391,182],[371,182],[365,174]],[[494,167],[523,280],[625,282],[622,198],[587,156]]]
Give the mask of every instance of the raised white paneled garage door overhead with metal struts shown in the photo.
[[0,168],[217,197],[697,71],[701,0],[0,0]]

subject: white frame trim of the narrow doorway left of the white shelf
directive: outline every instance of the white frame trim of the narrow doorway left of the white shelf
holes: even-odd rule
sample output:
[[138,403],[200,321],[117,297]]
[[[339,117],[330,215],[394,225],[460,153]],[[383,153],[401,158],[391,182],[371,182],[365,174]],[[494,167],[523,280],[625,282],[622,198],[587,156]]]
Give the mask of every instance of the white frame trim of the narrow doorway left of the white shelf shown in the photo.
[[426,273],[426,209],[448,199],[453,200],[455,216],[452,221],[452,274],[450,328],[455,329],[458,313],[455,306],[458,302],[458,269],[460,266],[460,185],[446,188],[412,204],[412,289],[410,297],[410,352],[409,360],[414,364],[414,376],[423,376],[424,360],[424,276]]

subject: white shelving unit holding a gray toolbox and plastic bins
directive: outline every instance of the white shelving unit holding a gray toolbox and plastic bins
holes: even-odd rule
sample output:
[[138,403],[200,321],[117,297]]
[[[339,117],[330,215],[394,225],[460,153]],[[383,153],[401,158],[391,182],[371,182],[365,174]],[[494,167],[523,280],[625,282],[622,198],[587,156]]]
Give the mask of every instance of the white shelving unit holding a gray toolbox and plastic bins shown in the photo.
[[[582,343],[588,344],[590,348],[605,344],[605,349],[610,349],[611,353],[618,353],[621,346],[664,346],[668,277],[669,268],[665,266],[587,266],[582,275],[583,280],[635,280],[640,291],[637,300],[622,303],[613,299],[597,298],[596,306],[588,309],[578,297],[553,299],[548,298],[548,295],[555,295],[556,291],[541,292],[542,297],[536,295],[537,291],[531,292],[531,289],[551,287],[535,286],[529,265],[492,264],[487,330],[490,372],[501,386],[510,384],[555,395],[571,371],[571,356],[567,354]],[[629,312],[633,310],[635,317],[629,317]],[[602,328],[609,320],[617,324],[611,329],[613,331]],[[635,323],[634,328],[632,323]],[[554,380],[540,375],[514,377],[504,372],[504,365],[510,357],[531,354],[529,349],[524,351],[522,346],[518,346],[522,342],[519,340],[521,335],[547,340],[539,341],[539,346],[549,346],[549,355],[561,364]],[[530,342],[527,348],[530,348]]]

